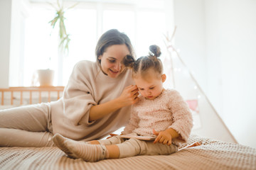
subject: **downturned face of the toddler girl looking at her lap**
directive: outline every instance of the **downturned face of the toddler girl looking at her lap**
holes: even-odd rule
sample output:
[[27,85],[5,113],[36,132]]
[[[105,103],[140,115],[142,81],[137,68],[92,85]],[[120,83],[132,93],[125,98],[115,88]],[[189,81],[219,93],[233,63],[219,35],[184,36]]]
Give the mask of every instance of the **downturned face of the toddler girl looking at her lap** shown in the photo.
[[146,77],[134,78],[135,84],[139,89],[139,93],[149,100],[154,100],[163,91],[163,83],[166,80],[166,75],[162,74],[157,77],[154,73],[148,74]]

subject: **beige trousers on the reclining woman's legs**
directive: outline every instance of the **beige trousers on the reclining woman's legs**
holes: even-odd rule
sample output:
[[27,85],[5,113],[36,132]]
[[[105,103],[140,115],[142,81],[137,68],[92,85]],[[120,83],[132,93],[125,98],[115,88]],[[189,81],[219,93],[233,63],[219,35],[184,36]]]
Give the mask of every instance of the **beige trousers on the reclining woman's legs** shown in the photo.
[[0,147],[53,146],[50,105],[0,110]]

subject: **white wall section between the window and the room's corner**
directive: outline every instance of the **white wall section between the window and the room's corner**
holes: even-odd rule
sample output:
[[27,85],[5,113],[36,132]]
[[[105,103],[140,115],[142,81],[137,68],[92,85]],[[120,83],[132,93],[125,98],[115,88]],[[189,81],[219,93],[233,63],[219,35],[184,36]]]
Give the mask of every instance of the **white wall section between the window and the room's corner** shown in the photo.
[[174,23],[177,26],[175,46],[198,83],[206,89],[206,29],[203,0],[174,1]]

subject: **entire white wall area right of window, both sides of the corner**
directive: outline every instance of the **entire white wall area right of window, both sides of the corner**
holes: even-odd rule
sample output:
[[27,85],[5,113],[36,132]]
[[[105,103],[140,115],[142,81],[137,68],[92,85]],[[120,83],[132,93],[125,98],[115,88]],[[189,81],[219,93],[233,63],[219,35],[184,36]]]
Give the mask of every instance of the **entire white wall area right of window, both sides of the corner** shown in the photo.
[[255,8],[251,0],[174,1],[181,57],[235,139],[256,148]]

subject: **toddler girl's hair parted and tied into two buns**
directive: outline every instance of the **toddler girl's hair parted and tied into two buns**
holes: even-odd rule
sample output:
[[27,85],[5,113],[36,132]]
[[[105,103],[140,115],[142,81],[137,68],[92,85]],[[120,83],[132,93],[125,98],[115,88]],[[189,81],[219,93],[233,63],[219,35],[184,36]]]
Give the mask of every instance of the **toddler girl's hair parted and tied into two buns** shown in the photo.
[[124,57],[123,64],[125,67],[132,68],[132,77],[143,77],[149,69],[153,69],[159,76],[163,74],[163,64],[159,59],[161,55],[160,47],[150,45],[149,50],[149,55],[139,57],[137,60],[134,60],[131,55]]

